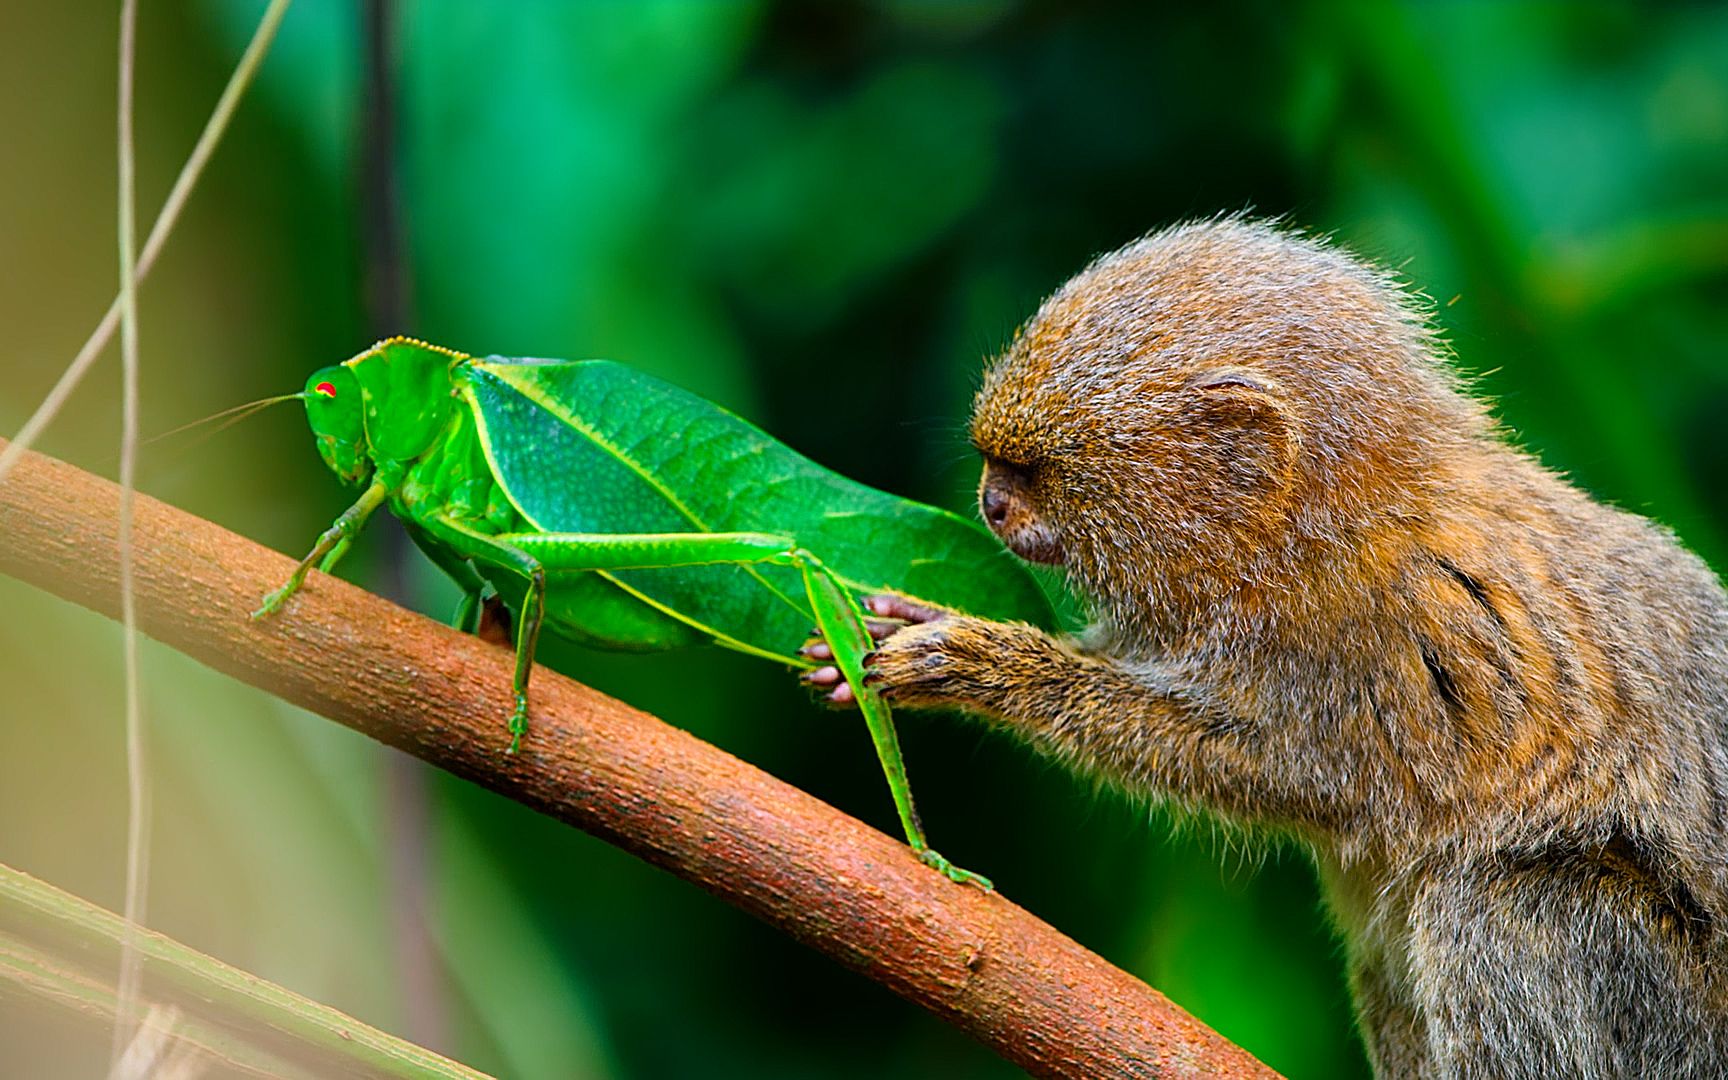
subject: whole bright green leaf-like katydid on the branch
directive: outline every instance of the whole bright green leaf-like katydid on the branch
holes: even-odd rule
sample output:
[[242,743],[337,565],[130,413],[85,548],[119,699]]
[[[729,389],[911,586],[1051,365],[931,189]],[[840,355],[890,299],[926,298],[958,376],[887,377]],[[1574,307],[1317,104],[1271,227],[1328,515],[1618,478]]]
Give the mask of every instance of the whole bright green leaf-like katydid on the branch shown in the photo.
[[389,339],[306,382],[325,463],[365,492],[264,598],[278,610],[389,506],[463,589],[456,626],[498,596],[517,636],[510,750],[527,733],[541,626],[603,648],[714,643],[793,667],[810,626],[850,686],[905,838],[956,881],[988,881],[924,842],[886,703],[864,684],[859,596],[897,591],[1047,622],[1039,584],[980,525],[874,491],[721,410],[600,361],[473,358]]

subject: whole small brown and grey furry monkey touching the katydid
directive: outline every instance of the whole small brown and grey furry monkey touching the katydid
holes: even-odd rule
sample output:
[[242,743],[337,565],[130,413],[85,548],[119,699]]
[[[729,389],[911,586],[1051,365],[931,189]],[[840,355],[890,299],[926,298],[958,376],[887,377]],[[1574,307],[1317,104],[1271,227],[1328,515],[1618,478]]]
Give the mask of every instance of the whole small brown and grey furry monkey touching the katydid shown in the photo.
[[1728,1075],[1728,596],[1510,446],[1398,282],[1165,230],[1044,302],[971,435],[1097,624],[878,600],[890,700],[1298,836],[1382,1077]]

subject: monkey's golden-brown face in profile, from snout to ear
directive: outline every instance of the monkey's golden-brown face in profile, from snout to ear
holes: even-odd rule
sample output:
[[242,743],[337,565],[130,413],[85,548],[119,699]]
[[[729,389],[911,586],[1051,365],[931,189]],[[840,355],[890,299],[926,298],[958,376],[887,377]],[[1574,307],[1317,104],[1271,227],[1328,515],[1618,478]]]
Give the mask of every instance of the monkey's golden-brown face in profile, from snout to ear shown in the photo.
[[971,422],[985,524],[1116,608],[1253,575],[1293,508],[1299,430],[1279,384],[1063,330],[1035,321],[985,375]]

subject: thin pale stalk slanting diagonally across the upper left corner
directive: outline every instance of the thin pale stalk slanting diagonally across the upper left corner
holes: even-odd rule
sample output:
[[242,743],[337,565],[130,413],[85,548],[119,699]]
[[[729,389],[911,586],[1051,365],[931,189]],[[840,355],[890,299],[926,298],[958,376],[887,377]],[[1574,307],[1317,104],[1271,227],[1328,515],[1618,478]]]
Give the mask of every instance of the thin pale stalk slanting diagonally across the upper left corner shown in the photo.
[[[228,121],[233,119],[235,109],[240,105],[240,98],[245,90],[252,85],[252,78],[257,74],[259,64],[264,62],[264,55],[270,52],[270,43],[276,38],[276,29],[282,26],[282,17],[289,12],[290,0],[270,0],[270,7],[264,9],[264,17],[257,21],[257,29],[252,31],[252,40],[247,43],[245,52],[240,55],[240,62],[235,64],[233,74],[228,76],[228,85],[223,86],[221,97],[216,98],[216,109],[211,118],[204,123],[204,131],[199,135],[197,145],[192,147],[192,156],[187,157],[187,164],[180,166],[180,175],[175,178],[175,187],[168,192],[168,200],[162,202],[162,211],[156,216],[156,223],[150,226],[150,235],[143,242],[143,251],[138,252],[138,271],[135,280],[142,282],[150,275],[150,268],[156,266],[157,256],[162,254],[162,245],[168,244],[168,237],[175,232],[175,225],[180,221],[180,213],[187,206],[187,199],[192,195],[192,188],[197,185],[199,176],[204,175],[204,166],[209,162],[211,154],[216,152],[216,145],[221,142],[223,135],[228,131]],[[29,449],[38,437],[41,437],[43,429],[54,422],[54,418],[66,406],[66,399],[73,396],[78,384],[83,382],[90,366],[102,356],[102,349],[114,340],[114,330],[119,328],[119,311],[121,299],[116,295],[114,302],[109,304],[107,314],[97,323],[97,328],[85,340],[78,356],[73,363],[66,365],[66,372],[60,373],[60,380],[54,384],[48,396],[41,399],[36,411],[31,413],[24,427],[19,429],[12,442],[0,449],[0,480],[5,480],[7,473],[17,465],[19,454]]]

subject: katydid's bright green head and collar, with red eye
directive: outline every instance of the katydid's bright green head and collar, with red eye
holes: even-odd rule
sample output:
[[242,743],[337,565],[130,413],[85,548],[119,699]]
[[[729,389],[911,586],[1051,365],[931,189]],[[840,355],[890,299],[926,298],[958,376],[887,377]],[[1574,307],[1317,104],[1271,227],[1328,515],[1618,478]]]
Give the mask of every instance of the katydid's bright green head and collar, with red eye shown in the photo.
[[373,467],[416,461],[449,429],[449,370],[461,353],[392,337],[306,380],[306,416],[335,475],[365,484]]

